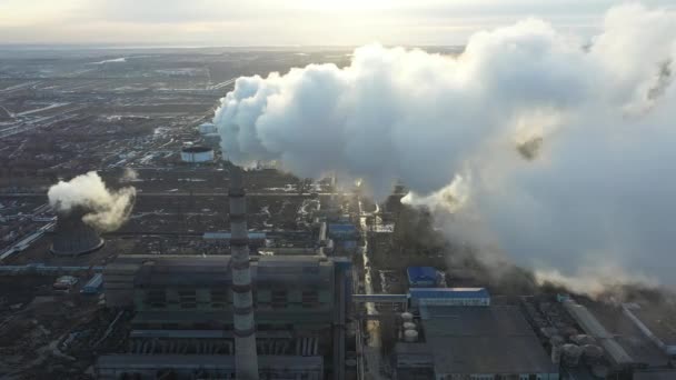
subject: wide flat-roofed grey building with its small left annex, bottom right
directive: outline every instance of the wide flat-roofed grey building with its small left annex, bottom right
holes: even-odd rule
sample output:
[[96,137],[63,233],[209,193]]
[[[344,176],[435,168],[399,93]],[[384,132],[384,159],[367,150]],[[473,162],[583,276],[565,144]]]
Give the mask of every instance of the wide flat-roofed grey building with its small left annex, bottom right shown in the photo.
[[424,307],[420,339],[395,347],[397,379],[559,379],[518,307]]

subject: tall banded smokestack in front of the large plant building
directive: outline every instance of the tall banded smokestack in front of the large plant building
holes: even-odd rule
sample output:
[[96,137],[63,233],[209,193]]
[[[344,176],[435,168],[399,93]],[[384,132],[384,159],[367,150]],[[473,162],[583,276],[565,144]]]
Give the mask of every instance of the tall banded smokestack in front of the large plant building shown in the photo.
[[232,304],[235,321],[235,369],[239,380],[258,380],[256,324],[249,269],[247,206],[240,168],[230,170],[230,248],[232,251]]

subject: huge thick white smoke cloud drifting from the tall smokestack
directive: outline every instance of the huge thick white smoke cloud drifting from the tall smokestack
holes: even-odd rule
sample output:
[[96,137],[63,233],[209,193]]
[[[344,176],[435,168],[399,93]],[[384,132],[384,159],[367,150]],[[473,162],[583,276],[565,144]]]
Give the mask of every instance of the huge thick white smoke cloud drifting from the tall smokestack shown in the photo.
[[529,19],[457,58],[368,46],[344,69],[240,78],[215,122],[238,163],[364,178],[379,198],[400,179],[454,238],[540,278],[674,282],[674,62],[676,16],[629,4],[592,41]]

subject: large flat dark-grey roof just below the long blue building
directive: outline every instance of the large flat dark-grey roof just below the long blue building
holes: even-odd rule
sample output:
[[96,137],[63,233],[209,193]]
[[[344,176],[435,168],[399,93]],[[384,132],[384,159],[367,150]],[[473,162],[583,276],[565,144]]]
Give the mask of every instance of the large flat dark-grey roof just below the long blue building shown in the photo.
[[429,307],[437,373],[558,373],[518,307]]

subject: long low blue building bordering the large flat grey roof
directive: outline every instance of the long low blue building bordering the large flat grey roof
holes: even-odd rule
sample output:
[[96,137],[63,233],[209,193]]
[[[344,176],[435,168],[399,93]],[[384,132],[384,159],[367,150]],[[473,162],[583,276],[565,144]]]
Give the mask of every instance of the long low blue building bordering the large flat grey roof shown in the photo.
[[410,306],[490,306],[486,288],[411,288]]

